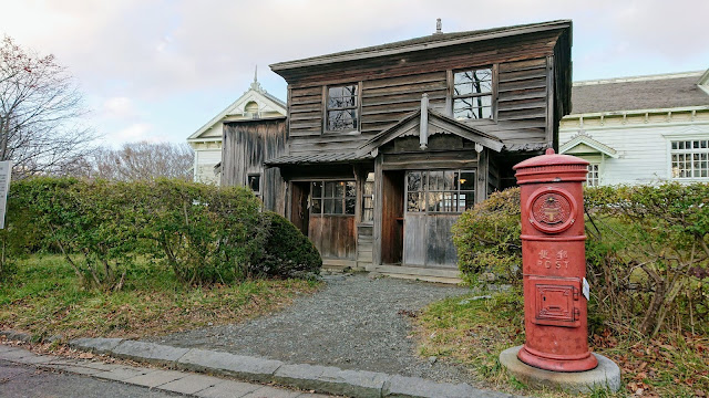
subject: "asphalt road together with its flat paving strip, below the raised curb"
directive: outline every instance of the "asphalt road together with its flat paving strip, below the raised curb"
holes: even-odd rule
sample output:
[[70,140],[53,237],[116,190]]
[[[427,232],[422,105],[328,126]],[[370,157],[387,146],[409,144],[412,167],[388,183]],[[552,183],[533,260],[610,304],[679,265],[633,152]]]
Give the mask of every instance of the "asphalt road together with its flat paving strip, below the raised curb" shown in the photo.
[[325,398],[192,371],[34,354],[0,344],[0,397]]

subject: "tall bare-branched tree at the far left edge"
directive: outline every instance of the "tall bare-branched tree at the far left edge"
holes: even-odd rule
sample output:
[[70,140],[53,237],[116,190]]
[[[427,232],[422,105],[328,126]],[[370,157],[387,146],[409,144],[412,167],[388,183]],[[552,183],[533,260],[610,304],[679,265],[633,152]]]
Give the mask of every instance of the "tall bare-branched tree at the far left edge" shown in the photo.
[[70,174],[91,148],[82,126],[86,111],[74,78],[53,55],[0,42],[0,160],[12,160],[13,178]]

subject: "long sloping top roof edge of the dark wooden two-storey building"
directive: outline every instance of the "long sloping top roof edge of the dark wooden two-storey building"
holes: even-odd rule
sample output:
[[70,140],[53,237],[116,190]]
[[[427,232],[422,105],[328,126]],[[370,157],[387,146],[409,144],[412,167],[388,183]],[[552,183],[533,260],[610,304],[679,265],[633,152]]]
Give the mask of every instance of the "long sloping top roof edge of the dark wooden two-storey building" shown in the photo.
[[[296,61],[279,62],[270,65],[270,69],[280,74],[296,67],[323,65],[336,62],[346,62],[352,60],[370,59],[376,56],[384,56],[400,54],[420,50],[435,49],[446,45],[464,44],[483,40],[500,39],[513,36],[517,34],[543,32],[555,29],[571,28],[571,20],[557,20],[540,23],[518,24],[512,27],[484,29],[466,32],[454,33],[436,33],[422,38],[403,40],[381,45],[373,45],[363,49],[338,52],[328,55],[319,55]],[[569,44],[571,45],[571,44]]]

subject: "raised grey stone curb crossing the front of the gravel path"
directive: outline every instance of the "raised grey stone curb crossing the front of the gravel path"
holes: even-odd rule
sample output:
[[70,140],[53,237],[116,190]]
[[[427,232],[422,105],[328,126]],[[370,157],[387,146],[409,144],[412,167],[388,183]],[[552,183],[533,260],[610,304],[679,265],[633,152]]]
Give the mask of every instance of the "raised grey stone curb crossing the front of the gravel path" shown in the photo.
[[346,370],[332,366],[284,364],[280,360],[120,338],[80,338],[70,342],[70,346],[136,362],[160,363],[177,369],[226,375],[243,380],[277,383],[284,386],[354,398],[514,397],[508,394],[481,390],[467,384],[435,383],[420,377]]

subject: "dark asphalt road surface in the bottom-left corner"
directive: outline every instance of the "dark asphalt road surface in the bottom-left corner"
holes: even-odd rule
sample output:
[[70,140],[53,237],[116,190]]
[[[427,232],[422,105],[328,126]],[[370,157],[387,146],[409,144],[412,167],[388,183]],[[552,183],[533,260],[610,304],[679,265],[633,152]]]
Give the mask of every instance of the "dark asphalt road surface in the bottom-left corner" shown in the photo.
[[0,359],[0,397],[7,398],[167,398],[178,394],[151,390],[120,381],[100,380]]

